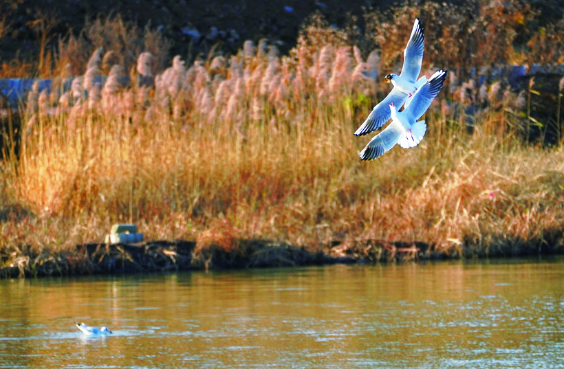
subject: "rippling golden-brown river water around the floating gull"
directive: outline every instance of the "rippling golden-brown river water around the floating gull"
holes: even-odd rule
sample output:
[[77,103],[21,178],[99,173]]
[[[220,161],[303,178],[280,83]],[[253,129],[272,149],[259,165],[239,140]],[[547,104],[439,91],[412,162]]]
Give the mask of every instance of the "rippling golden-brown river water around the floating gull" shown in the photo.
[[1,280],[0,368],[561,368],[563,295],[564,258]]

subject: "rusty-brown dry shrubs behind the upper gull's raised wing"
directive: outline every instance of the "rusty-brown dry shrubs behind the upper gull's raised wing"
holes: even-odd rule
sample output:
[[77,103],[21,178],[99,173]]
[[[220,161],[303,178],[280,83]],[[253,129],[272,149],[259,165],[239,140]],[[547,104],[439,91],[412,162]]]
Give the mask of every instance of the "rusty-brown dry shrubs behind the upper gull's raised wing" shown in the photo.
[[424,68],[556,63],[563,58],[563,22],[546,23],[527,1],[417,3],[407,0],[365,14],[367,41],[380,45],[384,70],[402,63],[404,40],[415,16],[424,25]]

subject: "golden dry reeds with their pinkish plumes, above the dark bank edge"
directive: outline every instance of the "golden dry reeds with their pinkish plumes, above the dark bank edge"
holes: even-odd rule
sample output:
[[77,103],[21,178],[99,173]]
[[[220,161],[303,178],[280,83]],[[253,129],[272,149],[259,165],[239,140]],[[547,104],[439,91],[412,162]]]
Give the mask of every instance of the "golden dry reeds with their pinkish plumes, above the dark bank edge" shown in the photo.
[[422,144],[360,161],[368,139],[352,133],[382,91],[360,50],[331,34],[315,49],[305,32],[292,58],[248,44],[228,63],[175,58],[154,90],[114,80],[56,114],[39,104],[19,159],[2,163],[0,245],[68,250],[127,221],[148,239],[195,239],[206,265],[206,252],[243,255],[251,238],[562,251],[564,151],[523,145],[511,99],[468,135],[445,89]]

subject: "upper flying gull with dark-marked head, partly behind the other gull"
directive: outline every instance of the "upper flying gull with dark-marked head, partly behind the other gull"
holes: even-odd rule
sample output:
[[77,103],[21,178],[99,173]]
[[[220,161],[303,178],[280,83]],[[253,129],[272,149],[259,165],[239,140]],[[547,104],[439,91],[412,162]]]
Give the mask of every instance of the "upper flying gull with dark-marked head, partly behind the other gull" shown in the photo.
[[423,34],[419,19],[416,18],[415,23],[413,23],[413,29],[411,29],[411,36],[409,36],[409,41],[404,49],[402,73],[399,76],[393,73],[388,74],[384,78],[386,82],[391,82],[393,89],[380,104],[372,109],[368,118],[358,127],[354,135],[366,135],[383,126],[390,119],[390,110],[388,108],[390,104],[393,104],[398,109],[402,107],[404,102],[405,107],[409,106],[411,98],[415,95],[417,89],[420,89],[427,80],[425,76],[417,80],[423,61],[424,41],[425,35]]

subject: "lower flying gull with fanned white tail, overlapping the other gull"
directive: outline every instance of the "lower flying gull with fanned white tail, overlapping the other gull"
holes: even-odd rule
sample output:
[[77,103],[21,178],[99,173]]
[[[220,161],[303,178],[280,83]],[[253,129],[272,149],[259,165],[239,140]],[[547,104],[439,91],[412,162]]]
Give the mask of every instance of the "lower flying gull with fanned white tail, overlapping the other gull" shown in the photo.
[[402,111],[397,111],[394,104],[389,104],[391,123],[378,133],[360,152],[360,159],[372,160],[384,155],[395,144],[402,148],[415,147],[425,135],[424,120],[416,122],[425,113],[431,101],[441,91],[446,78],[446,71],[437,71],[413,96],[413,101]]

